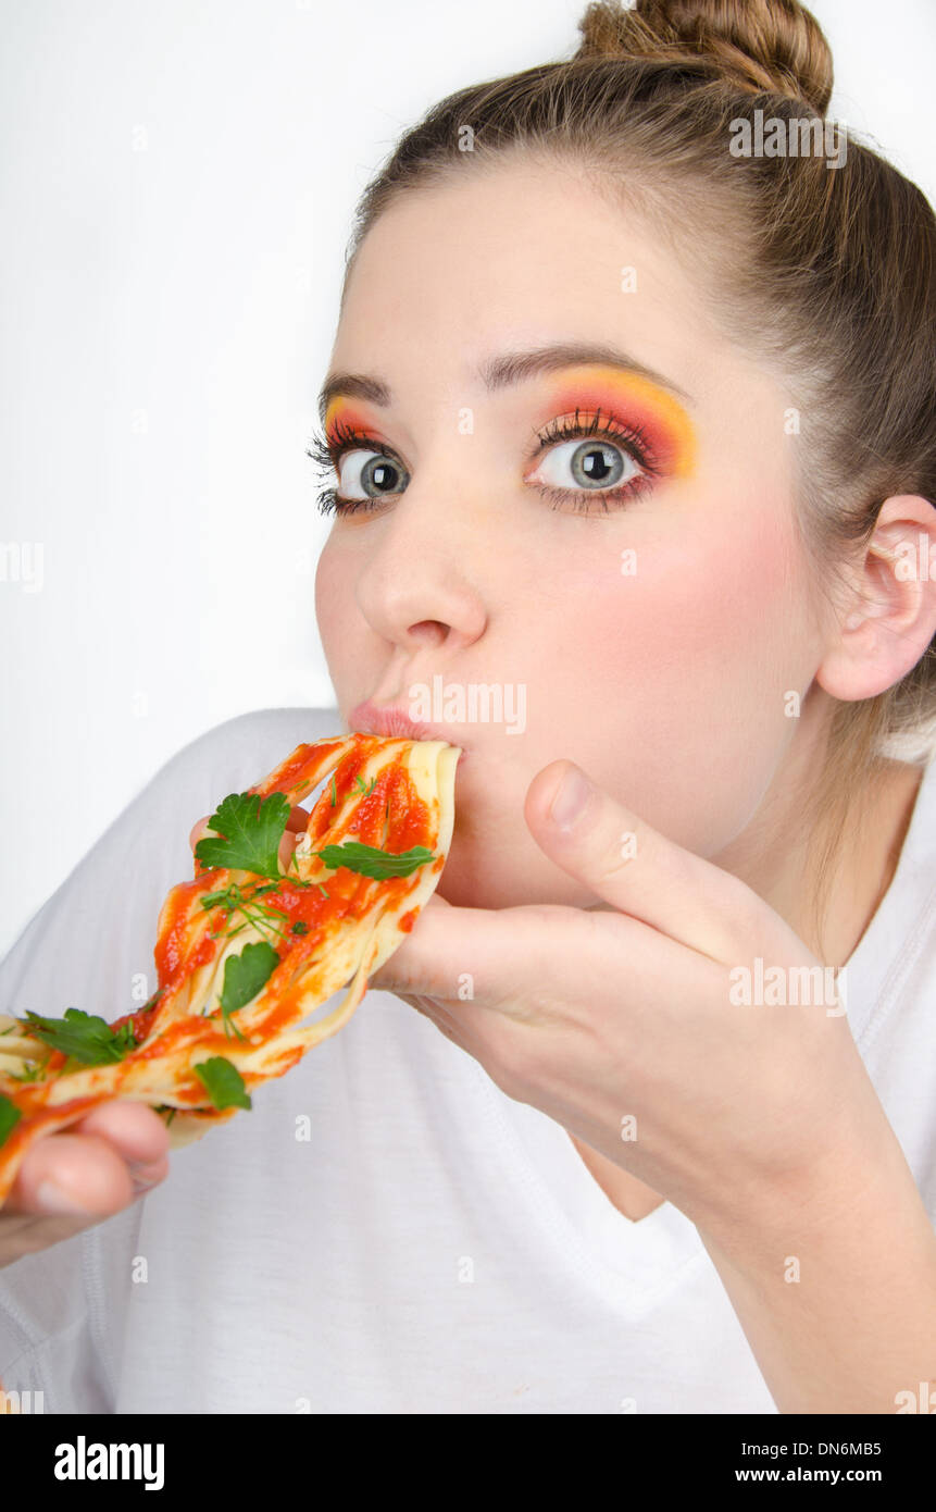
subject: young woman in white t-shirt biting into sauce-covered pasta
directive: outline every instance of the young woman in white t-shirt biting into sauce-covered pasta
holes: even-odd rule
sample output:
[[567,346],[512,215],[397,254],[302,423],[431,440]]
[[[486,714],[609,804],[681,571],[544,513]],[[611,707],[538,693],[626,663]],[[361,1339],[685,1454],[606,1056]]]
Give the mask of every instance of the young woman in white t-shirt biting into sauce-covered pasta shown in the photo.
[[169,1179],[129,1102],[30,1152],[0,1374],[48,1411],[886,1414],[931,1374],[933,212],[829,130],[794,0],[581,33],[361,203],[337,709],[180,751],[5,962],[5,1010],[115,1016],[186,815],[340,727],[466,751],[340,1036]]

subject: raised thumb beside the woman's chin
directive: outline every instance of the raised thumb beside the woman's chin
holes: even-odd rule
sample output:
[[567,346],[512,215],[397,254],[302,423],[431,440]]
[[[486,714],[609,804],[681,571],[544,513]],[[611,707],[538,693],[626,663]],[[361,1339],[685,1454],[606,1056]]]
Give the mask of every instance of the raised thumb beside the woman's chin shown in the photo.
[[765,904],[597,788],[572,761],[544,767],[523,807],[537,845],[621,913],[714,960],[733,960]]

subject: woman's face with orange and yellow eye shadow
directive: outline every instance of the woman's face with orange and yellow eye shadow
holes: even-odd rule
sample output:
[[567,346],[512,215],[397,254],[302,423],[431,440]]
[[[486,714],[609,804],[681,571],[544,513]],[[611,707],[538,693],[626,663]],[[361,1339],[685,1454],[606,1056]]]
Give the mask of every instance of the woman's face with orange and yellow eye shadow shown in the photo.
[[330,438],[363,440],[339,458],[358,508],[336,516],[316,612],[346,726],[395,703],[467,753],[440,895],[594,901],[523,820],[556,758],[735,854],[806,738],[789,699],[823,647],[791,399],[709,324],[691,269],[567,172],[466,175],[364,239],[336,373],[372,387],[327,410]]

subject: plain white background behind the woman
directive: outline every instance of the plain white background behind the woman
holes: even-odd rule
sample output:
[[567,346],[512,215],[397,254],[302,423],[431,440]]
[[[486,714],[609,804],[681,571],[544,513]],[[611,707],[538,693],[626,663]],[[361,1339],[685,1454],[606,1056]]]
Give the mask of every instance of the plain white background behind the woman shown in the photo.
[[[936,200],[934,0],[812,9],[830,115]],[[42,585],[0,581],[0,953],[180,745],[333,702],[304,449],[354,206],[582,11],[2,0],[0,541],[42,544]]]

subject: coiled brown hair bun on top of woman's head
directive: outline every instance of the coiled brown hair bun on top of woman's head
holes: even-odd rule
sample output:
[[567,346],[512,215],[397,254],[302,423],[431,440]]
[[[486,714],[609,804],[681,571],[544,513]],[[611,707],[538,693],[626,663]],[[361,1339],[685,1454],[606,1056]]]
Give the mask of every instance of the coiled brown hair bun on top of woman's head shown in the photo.
[[739,89],[801,100],[818,115],[829,109],[832,51],[798,0],[637,0],[634,9],[593,0],[579,32],[576,59],[705,57]]

